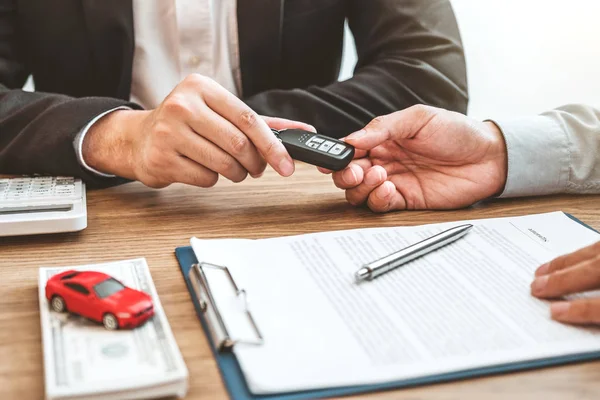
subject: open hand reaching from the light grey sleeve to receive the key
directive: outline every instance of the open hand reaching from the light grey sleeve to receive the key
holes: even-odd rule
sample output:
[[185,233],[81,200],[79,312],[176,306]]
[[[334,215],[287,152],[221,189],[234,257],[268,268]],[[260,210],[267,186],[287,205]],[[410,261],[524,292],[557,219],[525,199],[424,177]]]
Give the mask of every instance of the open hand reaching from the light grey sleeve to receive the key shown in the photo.
[[345,141],[356,147],[355,160],[333,181],[351,204],[376,212],[465,207],[500,194],[506,182],[502,133],[462,114],[414,106]]

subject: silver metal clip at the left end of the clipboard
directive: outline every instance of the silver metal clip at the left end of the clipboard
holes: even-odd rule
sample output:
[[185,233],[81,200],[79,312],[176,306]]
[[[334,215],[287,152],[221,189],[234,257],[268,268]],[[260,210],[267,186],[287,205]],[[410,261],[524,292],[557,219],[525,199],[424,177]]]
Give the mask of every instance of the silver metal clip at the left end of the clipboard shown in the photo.
[[[231,282],[231,285],[233,287],[235,297],[241,298],[244,302],[244,314],[248,318],[248,322],[251,325],[253,331],[256,333],[255,340],[239,339],[232,337],[223,319],[223,314],[219,310],[219,307],[217,306],[217,303],[213,296],[213,292],[211,290],[208,278],[205,273],[205,270],[207,268],[216,269],[226,274],[227,279]],[[263,336],[260,333],[258,326],[254,321],[254,318],[252,317],[252,313],[250,313],[250,310],[248,309],[248,303],[246,301],[246,291],[238,287],[227,267],[210,263],[199,263],[192,265],[189,274],[190,282],[194,289],[194,294],[196,295],[196,299],[198,299],[200,310],[204,316],[204,320],[206,322],[206,325],[208,326],[209,334],[211,336],[212,342],[217,348],[217,351],[231,350],[233,346],[238,343],[247,345],[263,344]]]

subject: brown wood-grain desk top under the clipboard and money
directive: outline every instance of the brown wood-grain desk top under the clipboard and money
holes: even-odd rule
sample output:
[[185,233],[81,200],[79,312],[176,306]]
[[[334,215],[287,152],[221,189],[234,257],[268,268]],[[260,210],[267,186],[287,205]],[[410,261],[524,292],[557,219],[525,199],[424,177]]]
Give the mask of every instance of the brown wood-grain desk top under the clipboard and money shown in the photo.
[[[272,171],[210,190],[133,183],[88,191],[80,233],[0,238],[0,399],[41,399],[44,374],[37,299],[40,265],[78,265],[146,257],[190,372],[189,399],[225,398],[174,249],[189,238],[264,238],[321,230],[418,225],[562,210],[600,229],[600,196],[498,200],[460,211],[375,215],[344,200],[330,179],[299,166],[290,179]],[[394,399],[597,399],[600,362],[383,392]]]

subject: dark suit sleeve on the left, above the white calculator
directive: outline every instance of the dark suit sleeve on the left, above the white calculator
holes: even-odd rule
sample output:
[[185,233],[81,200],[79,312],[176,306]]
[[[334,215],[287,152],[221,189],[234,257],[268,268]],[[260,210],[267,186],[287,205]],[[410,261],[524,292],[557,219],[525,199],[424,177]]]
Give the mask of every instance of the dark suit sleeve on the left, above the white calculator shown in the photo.
[[75,136],[96,115],[128,105],[110,98],[72,98],[21,90],[29,71],[18,54],[16,6],[0,0],[0,174],[67,175],[91,186],[123,183],[83,168]]

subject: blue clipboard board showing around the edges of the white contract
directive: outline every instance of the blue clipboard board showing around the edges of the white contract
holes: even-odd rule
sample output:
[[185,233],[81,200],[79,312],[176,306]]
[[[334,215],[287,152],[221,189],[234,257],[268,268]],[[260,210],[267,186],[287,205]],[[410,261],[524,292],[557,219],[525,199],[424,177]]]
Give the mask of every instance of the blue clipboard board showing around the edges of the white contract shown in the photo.
[[[593,230],[594,232],[598,232],[590,226],[584,224],[579,221],[577,218],[573,217],[570,214],[566,214],[569,218],[577,221],[578,223],[586,226],[587,228]],[[600,232],[599,232],[600,233]],[[221,376],[225,383],[225,387],[229,392],[229,395],[232,399],[241,399],[241,400],[252,400],[252,399],[282,399],[282,400],[303,400],[303,399],[314,399],[314,398],[323,398],[323,397],[338,397],[338,396],[346,396],[352,394],[360,394],[360,393],[368,393],[375,391],[383,391],[390,389],[400,389],[411,386],[420,386],[426,384],[433,383],[441,383],[448,381],[455,381],[467,378],[481,377],[486,375],[494,375],[499,373],[506,372],[516,372],[516,371],[524,371],[530,369],[538,369],[543,367],[557,366],[575,362],[584,362],[590,360],[600,359],[600,351],[594,351],[590,353],[583,354],[575,354],[575,355],[567,355],[561,357],[552,357],[546,359],[540,359],[535,361],[525,361],[525,362],[517,362],[511,364],[504,365],[495,365],[492,367],[485,368],[477,368],[472,370],[465,370],[460,372],[453,372],[447,374],[433,375],[427,376],[424,378],[415,378],[415,379],[405,379],[395,382],[388,382],[382,384],[375,385],[360,385],[360,386],[348,386],[348,387],[338,387],[338,388],[330,388],[330,389],[318,389],[318,390],[308,390],[302,392],[290,392],[290,393],[278,393],[271,395],[254,395],[248,389],[246,385],[246,381],[244,378],[244,374],[240,369],[240,366],[235,358],[235,355],[232,352],[219,352],[216,350],[215,343],[212,342],[210,335],[208,334],[208,326],[204,318],[202,317],[202,312],[200,309],[200,304],[198,303],[198,299],[194,294],[194,290],[192,288],[192,283],[189,279],[189,272],[193,264],[196,264],[198,260],[194,254],[194,251],[190,246],[186,247],[178,247],[175,249],[175,255],[177,257],[177,261],[179,262],[179,266],[181,268],[181,272],[185,279],[185,283],[190,292],[190,296],[192,297],[192,301],[194,303],[194,308],[196,309],[196,313],[198,314],[198,318],[200,319],[200,323],[202,324],[202,329],[206,334],[208,341],[211,345],[211,349],[215,359],[217,360],[217,364],[219,366],[219,370],[221,372]]]

